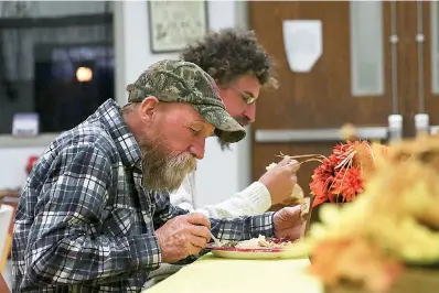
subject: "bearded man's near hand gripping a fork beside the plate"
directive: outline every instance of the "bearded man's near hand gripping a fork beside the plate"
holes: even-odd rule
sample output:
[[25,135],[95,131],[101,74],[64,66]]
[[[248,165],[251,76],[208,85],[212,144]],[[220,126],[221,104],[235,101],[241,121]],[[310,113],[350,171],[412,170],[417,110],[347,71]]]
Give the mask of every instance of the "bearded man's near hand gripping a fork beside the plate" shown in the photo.
[[162,262],[173,263],[197,254],[211,239],[211,221],[200,213],[178,216],[156,230]]

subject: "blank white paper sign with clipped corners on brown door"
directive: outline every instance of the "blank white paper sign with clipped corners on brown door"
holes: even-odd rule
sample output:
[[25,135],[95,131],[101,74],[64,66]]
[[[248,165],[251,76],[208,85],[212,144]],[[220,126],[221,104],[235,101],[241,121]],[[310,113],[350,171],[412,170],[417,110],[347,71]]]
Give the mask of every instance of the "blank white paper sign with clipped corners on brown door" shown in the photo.
[[283,46],[291,72],[308,73],[323,53],[320,20],[285,20]]

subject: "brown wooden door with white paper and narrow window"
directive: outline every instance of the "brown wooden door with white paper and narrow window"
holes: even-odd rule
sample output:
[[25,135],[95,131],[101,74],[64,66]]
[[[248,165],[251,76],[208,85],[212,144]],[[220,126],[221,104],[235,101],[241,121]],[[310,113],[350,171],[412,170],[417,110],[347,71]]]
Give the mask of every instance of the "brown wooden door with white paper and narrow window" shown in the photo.
[[[267,164],[278,160],[275,155],[279,152],[291,155],[310,153],[326,155],[336,142],[328,140],[260,142],[256,137],[261,130],[340,129],[346,122],[358,128],[385,128],[389,115],[401,115],[404,134],[413,134],[414,107],[418,96],[417,43],[416,25],[414,25],[417,4],[405,1],[383,1],[378,2],[381,7],[376,7],[375,3],[375,7],[364,7],[363,11],[362,2],[250,1],[248,3],[250,29],[255,30],[261,44],[275,57],[280,82],[278,90],[263,93],[258,101],[256,122],[253,127],[254,180],[265,172]],[[427,13],[429,4],[422,4],[422,9]],[[321,20],[322,22],[323,53],[308,73],[293,73],[289,68],[283,46],[283,20]],[[427,18],[424,19],[424,22],[428,21]],[[367,22],[371,26],[379,25],[379,28],[375,26],[378,31],[376,35],[379,37],[371,39],[371,34],[365,31],[368,29]],[[357,25],[355,26],[357,31],[352,31],[352,25]],[[364,37],[362,33],[365,33]],[[366,70],[363,76],[361,72],[353,74],[357,70],[351,68],[353,54],[357,53],[352,51],[351,37],[356,37],[356,44],[364,46],[363,62],[366,63],[363,63],[363,69],[367,69],[368,66],[367,54],[364,56],[364,50],[371,45],[378,47],[378,51],[371,47],[374,48],[371,50],[371,59],[374,52],[376,54],[382,50],[381,91],[368,94],[365,90],[358,94],[356,89],[357,91],[354,93],[352,84],[358,80],[358,75],[365,78],[363,80],[365,85],[367,85],[367,78],[374,80],[373,78],[377,76],[371,70],[368,73]],[[362,47],[356,50],[361,52]],[[424,62],[426,63],[425,75],[428,75],[429,61],[425,58]],[[428,82],[426,82],[426,87],[429,87]],[[435,101],[432,99],[433,97],[427,95],[427,108],[437,109],[438,99]],[[432,120],[436,121],[435,119]],[[299,184],[306,193],[309,193],[310,176],[315,166],[317,164],[313,163],[303,165],[298,174]]]

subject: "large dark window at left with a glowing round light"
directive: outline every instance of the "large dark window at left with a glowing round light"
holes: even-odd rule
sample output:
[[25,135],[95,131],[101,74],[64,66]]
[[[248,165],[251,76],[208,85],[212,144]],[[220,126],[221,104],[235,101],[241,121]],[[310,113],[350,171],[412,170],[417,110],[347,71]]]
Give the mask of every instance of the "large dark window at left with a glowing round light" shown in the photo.
[[114,98],[108,1],[0,3],[0,134],[36,112],[40,133],[67,130]]

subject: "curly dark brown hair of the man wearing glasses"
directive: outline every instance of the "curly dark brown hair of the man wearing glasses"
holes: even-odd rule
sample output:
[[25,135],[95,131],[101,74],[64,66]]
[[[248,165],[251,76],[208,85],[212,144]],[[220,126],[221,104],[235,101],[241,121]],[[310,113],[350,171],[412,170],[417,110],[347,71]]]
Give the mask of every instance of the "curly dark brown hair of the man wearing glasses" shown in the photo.
[[254,31],[223,29],[188,45],[180,57],[204,69],[220,86],[251,74],[263,87],[277,88],[274,61],[258,43]]

